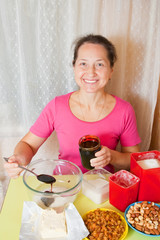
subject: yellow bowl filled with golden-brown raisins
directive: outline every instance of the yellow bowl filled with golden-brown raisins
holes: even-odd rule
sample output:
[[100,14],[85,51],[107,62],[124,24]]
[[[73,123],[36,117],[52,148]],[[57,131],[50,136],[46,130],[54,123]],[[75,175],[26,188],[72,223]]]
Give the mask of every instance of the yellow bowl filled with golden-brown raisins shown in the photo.
[[97,208],[83,216],[84,223],[90,232],[85,240],[123,240],[128,233],[125,219],[116,211]]

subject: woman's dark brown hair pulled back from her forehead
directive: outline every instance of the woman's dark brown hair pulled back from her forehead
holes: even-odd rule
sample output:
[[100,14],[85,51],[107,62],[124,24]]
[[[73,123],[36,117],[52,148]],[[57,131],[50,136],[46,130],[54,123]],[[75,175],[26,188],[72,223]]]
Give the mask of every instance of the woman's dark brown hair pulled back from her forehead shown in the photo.
[[110,66],[111,67],[114,66],[114,63],[117,60],[117,53],[116,53],[116,49],[115,49],[114,45],[107,38],[103,37],[102,35],[93,35],[93,34],[89,34],[84,37],[80,37],[80,38],[76,39],[76,41],[74,42],[75,47],[74,47],[74,55],[73,55],[73,61],[72,61],[73,66],[75,65],[75,62],[77,60],[79,48],[85,43],[93,43],[93,44],[102,45],[107,51],[107,58],[110,62]]

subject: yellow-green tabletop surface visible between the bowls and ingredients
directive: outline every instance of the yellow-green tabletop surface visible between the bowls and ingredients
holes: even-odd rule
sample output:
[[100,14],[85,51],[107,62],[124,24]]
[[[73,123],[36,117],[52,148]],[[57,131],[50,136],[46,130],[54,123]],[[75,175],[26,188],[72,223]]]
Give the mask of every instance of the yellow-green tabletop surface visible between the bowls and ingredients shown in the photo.
[[[21,227],[21,217],[23,210],[23,202],[29,201],[26,187],[23,184],[22,177],[18,179],[11,180],[9,188],[5,197],[5,201],[0,213],[0,239],[1,240],[18,240],[19,231]],[[103,204],[97,205],[82,193],[79,193],[77,199],[74,202],[77,210],[83,216],[87,211],[99,207],[104,207],[108,209],[116,210],[117,212],[124,215],[124,213],[113,207],[109,201]],[[139,234],[129,228],[126,240],[151,240],[153,237],[146,237]],[[155,240],[160,239],[160,237],[154,237]]]

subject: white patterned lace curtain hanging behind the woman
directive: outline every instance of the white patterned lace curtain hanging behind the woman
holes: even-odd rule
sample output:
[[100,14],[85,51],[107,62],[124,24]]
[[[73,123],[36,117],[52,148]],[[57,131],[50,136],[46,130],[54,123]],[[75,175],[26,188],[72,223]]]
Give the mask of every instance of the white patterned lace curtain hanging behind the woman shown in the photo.
[[[87,33],[115,44],[107,90],[133,105],[141,151],[148,150],[158,99],[159,11],[159,0],[0,0],[1,155],[12,154],[52,98],[77,89],[71,45]],[[49,141],[43,156],[57,154]]]

